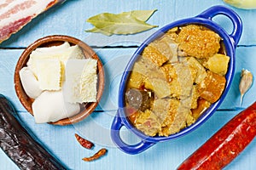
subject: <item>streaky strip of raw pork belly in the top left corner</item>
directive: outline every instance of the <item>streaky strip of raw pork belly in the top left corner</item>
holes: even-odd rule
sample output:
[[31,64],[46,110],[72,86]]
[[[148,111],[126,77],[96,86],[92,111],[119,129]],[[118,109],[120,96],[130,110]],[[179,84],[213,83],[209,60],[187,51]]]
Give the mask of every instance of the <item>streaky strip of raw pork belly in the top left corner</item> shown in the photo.
[[26,26],[38,14],[65,0],[0,1],[0,43]]

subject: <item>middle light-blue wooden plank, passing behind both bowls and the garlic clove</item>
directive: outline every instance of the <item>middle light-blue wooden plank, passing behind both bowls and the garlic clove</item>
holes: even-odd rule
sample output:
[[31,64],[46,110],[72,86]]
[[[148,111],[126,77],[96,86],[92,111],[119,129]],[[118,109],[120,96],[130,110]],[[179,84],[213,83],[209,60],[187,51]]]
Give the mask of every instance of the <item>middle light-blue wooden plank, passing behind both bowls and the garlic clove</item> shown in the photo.
[[[125,66],[131,59],[132,54],[137,48],[96,48],[95,51],[102,59],[104,71],[106,74],[105,89],[102,100],[96,111],[115,111],[118,108],[119,98],[119,82]],[[229,93],[224,99],[219,109],[239,109],[240,107],[240,94],[238,84],[240,82],[241,69],[247,69],[256,74],[256,61],[255,61],[256,47],[239,47],[236,49],[236,73],[233,79]],[[25,111],[24,107],[20,105],[17,99],[14,88],[14,71],[16,62],[22,53],[21,49],[15,50],[0,50],[0,72],[3,73],[0,77],[0,93],[8,95],[9,99],[13,100],[15,107],[18,111]],[[255,79],[253,80],[255,84]],[[253,86],[249,92],[244,96],[242,108],[252,104],[255,100],[256,87]]]

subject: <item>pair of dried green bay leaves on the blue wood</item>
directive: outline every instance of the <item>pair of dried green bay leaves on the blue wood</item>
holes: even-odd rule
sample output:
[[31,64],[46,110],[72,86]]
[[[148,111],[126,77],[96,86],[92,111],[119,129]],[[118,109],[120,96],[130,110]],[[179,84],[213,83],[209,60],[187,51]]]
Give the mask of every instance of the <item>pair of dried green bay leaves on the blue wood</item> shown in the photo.
[[90,32],[100,32],[104,35],[112,34],[135,34],[147,31],[156,26],[151,26],[145,21],[154,14],[155,10],[136,10],[121,14],[102,13],[90,17],[87,22],[96,26],[88,30]]

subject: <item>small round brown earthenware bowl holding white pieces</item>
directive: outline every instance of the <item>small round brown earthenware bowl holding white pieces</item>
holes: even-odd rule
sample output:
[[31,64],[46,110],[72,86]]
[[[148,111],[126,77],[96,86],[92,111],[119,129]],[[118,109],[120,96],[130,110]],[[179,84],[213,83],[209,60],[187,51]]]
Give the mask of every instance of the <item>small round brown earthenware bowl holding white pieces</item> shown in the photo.
[[26,108],[26,111],[30,112],[33,115],[33,112],[32,112],[33,99],[30,99],[26,95],[24,89],[22,88],[19,71],[22,69],[22,67],[26,66],[26,62],[28,61],[30,54],[34,49],[61,45],[63,42],[69,42],[71,45],[76,45],[76,44],[79,45],[79,47],[84,52],[85,58],[87,59],[92,58],[97,60],[97,77],[98,77],[97,94],[96,94],[96,102],[84,103],[83,109],[81,109],[81,111],[75,116],[67,117],[57,122],[50,122],[51,124],[55,124],[55,125],[73,124],[75,122],[82,121],[85,117],[89,116],[90,113],[92,113],[96,109],[96,106],[98,105],[102,97],[103,89],[104,89],[104,70],[102,66],[102,61],[101,59],[99,59],[99,57],[96,55],[95,51],[92,48],[90,48],[86,43],[74,37],[68,37],[68,36],[62,36],[62,35],[43,37],[38,39],[36,42],[33,42],[30,46],[28,46],[25,49],[25,51],[21,54],[20,59],[18,60],[18,63],[15,68],[15,91],[18,98],[20,99],[21,104]]

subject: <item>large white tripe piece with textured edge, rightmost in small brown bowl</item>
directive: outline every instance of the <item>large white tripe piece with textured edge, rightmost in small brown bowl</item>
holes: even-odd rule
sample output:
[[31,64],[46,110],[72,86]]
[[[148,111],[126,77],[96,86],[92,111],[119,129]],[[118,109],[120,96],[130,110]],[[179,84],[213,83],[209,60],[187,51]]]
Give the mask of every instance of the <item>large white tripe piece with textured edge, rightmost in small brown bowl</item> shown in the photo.
[[69,59],[63,83],[65,100],[70,103],[96,102],[96,59]]

